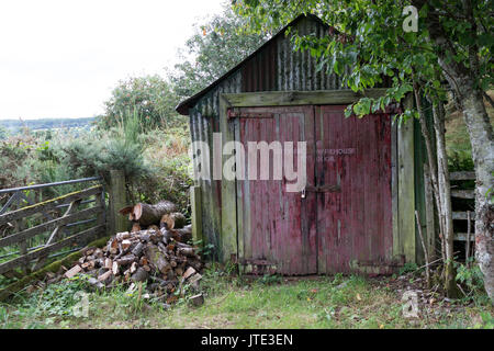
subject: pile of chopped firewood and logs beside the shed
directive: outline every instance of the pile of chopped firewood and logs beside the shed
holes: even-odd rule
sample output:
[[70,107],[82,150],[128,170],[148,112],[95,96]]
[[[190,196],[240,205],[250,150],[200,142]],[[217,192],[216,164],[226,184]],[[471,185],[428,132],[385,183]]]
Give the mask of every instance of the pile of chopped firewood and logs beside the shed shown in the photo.
[[[187,244],[192,228],[184,225],[186,217],[175,212],[175,205],[169,202],[137,204],[120,212],[130,216],[132,230],[116,234],[104,248],[87,249],[65,272],[65,278],[86,273],[91,275],[89,282],[99,288],[120,283],[133,288],[147,282],[150,293],[167,304],[183,296],[186,285],[198,293],[201,257],[195,247]],[[193,304],[201,301],[193,297]]]

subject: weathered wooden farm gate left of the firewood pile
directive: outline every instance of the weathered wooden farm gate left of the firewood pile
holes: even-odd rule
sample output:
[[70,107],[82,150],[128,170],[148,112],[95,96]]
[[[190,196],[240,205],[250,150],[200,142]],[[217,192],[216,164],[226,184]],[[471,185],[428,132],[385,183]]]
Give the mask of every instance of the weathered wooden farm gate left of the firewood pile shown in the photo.
[[[43,199],[48,189],[69,184],[87,188]],[[105,191],[100,178],[3,189],[1,195],[8,197],[0,210],[0,274],[8,278],[36,271],[49,258],[105,234]]]

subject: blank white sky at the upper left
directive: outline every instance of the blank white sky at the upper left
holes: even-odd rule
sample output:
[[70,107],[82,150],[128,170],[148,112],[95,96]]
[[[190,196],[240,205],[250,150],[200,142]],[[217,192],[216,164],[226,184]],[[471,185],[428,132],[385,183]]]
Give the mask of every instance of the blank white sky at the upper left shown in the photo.
[[120,79],[164,76],[192,24],[222,3],[0,0],[0,120],[102,113]]

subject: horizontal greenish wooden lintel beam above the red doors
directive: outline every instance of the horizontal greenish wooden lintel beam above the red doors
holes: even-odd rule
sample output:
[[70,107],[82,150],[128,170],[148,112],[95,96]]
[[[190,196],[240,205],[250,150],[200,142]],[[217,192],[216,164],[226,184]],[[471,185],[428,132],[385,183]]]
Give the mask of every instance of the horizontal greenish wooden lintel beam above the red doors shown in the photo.
[[224,99],[224,102],[232,107],[349,104],[363,97],[382,97],[385,91],[385,88],[375,88],[369,89],[364,93],[353,92],[349,89],[244,92],[236,94],[221,94],[220,104],[222,103],[222,99]]

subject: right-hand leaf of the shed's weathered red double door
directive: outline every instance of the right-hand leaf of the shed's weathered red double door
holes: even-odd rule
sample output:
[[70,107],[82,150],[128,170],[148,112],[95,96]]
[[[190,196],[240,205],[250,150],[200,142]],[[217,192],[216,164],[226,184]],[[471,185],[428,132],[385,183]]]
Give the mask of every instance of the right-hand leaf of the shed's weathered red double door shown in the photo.
[[[346,106],[316,106],[319,273],[382,272],[391,260],[391,118],[345,118]],[[371,270],[369,270],[371,268]]]

